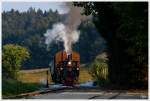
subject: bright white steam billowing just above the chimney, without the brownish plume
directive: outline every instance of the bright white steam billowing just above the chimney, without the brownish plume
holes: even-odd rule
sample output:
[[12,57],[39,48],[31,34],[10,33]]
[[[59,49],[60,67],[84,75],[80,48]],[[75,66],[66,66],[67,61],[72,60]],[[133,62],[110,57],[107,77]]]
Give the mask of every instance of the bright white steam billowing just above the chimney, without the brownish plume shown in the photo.
[[63,42],[65,51],[67,54],[70,54],[72,51],[72,44],[78,41],[80,32],[77,30],[70,30],[63,23],[56,23],[53,25],[52,29],[47,30],[44,35],[47,45],[57,41]]

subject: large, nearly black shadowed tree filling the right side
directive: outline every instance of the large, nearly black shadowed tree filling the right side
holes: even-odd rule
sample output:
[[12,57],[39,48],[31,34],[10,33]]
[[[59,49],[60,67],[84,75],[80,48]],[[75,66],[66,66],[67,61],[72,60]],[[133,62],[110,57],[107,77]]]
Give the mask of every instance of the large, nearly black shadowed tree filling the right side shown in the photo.
[[[148,85],[148,2],[76,2],[92,14],[109,52],[111,83]],[[147,86],[145,86],[147,87]]]

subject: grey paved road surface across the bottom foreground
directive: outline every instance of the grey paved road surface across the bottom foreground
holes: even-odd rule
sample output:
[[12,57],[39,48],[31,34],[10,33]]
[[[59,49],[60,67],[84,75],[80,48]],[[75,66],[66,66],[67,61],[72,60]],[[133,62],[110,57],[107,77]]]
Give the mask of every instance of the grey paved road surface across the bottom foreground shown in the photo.
[[61,91],[51,92],[29,97],[30,99],[147,99],[144,93],[131,93],[127,91]]

